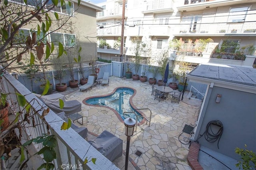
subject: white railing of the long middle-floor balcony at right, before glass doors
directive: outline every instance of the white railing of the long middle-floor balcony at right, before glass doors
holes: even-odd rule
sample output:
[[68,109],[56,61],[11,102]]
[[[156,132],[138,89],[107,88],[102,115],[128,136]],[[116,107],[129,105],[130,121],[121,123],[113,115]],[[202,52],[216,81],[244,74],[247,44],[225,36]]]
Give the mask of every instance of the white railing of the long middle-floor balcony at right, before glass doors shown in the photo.
[[256,33],[256,22],[243,22],[243,23],[196,23],[193,27],[190,24],[180,25],[176,33],[181,34],[244,34]]

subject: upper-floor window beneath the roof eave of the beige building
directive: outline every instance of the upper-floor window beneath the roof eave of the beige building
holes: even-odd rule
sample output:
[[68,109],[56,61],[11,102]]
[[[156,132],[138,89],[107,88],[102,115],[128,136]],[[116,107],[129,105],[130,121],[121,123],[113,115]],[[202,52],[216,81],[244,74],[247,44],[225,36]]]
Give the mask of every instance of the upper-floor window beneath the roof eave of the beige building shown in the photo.
[[[49,0],[47,3],[47,6],[52,6],[52,0]],[[58,5],[54,8],[56,12],[60,12],[62,14],[67,14],[67,15],[74,15],[74,3],[73,2],[68,2],[64,1],[64,4],[60,6],[60,2]]]

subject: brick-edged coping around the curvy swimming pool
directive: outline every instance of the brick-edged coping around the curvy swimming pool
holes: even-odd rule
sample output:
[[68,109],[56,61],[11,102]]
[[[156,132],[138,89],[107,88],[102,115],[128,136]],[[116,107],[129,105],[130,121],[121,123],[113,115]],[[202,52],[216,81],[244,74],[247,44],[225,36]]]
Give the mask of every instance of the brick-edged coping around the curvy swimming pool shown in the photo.
[[[114,94],[118,88],[130,88],[130,89],[134,90],[134,94],[130,97],[129,102],[130,102],[130,105],[133,107],[133,109],[135,109],[135,110],[136,110],[136,109],[139,109],[139,108],[137,108],[137,107],[133,104],[133,102],[132,102],[132,98],[136,95],[136,92],[137,92],[136,89],[131,88],[131,87],[126,87],[126,86],[116,87],[116,88],[114,88],[114,90],[113,90],[111,93],[106,94],[106,95],[90,96],[90,97],[88,97],[88,98],[85,98],[85,99],[82,101],[82,103],[85,104],[85,105],[87,105],[87,106],[105,107],[105,108],[108,108],[108,109],[112,110],[112,111],[116,114],[116,116],[118,117],[119,121],[121,121],[122,123],[124,123],[124,120],[122,119],[122,117],[119,115],[119,113],[118,113],[115,109],[113,109],[113,108],[111,108],[111,107],[108,107],[108,106],[92,105],[92,104],[88,104],[88,103],[85,102],[86,100],[88,100],[88,99],[90,99],[90,98],[98,98],[98,97],[110,96],[110,95]],[[137,124],[137,126],[140,126],[140,125],[142,125],[142,124],[145,123],[146,119],[145,119],[144,117],[146,117],[146,115],[145,115],[142,111],[140,111],[140,110],[136,110],[136,111],[137,111],[138,113],[140,113],[140,114],[143,116],[142,121]]]

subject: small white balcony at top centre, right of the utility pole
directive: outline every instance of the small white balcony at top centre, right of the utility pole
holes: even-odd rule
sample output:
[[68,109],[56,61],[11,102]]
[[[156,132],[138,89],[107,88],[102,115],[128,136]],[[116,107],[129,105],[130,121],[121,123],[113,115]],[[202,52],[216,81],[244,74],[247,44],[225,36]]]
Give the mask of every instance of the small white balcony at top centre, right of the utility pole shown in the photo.
[[152,0],[150,2],[146,2],[143,14],[148,13],[164,13],[164,12],[173,12],[173,0]]

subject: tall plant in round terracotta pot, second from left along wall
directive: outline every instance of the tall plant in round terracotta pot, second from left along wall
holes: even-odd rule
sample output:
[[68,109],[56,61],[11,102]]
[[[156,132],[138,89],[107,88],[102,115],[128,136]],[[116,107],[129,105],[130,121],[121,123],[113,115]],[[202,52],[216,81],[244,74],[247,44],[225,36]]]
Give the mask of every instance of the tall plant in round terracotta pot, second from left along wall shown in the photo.
[[66,83],[63,83],[62,82],[62,79],[64,78],[66,72],[63,68],[63,61],[60,57],[57,57],[57,56],[54,56],[52,58],[52,61],[53,61],[53,67],[55,69],[55,75],[54,75],[54,78],[56,78],[57,80],[59,80],[59,83],[57,83],[55,85],[56,87],[56,90],[58,92],[64,92],[67,90],[67,87],[68,85]]

